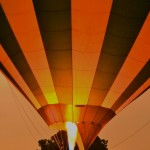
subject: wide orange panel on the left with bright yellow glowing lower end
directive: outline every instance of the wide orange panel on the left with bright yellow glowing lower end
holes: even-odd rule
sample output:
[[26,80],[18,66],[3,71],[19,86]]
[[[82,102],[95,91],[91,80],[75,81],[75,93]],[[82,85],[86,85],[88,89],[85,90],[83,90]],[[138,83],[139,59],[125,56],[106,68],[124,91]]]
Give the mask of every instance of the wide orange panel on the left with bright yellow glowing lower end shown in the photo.
[[10,26],[47,103],[58,103],[32,1],[13,3],[10,7],[11,1],[2,1]]

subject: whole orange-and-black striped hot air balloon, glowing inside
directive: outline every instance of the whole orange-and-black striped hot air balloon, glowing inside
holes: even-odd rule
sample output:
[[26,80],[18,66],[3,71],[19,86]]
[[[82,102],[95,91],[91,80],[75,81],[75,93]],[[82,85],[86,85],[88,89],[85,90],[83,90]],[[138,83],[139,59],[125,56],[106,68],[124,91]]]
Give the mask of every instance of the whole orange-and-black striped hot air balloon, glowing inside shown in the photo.
[[77,127],[87,150],[150,86],[149,8],[148,0],[1,0],[1,70],[50,128]]

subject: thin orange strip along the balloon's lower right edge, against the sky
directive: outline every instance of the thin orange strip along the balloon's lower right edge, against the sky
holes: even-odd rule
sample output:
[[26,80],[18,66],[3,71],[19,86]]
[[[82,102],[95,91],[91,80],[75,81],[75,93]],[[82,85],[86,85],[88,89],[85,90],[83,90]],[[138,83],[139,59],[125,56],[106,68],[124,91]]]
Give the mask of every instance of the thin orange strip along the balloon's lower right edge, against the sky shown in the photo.
[[126,102],[116,110],[116,113],[119,113],[123,110],[128,104],[130,104],[137,96],[139,96],[146,88],[150,86],[150,78],[129,98]]

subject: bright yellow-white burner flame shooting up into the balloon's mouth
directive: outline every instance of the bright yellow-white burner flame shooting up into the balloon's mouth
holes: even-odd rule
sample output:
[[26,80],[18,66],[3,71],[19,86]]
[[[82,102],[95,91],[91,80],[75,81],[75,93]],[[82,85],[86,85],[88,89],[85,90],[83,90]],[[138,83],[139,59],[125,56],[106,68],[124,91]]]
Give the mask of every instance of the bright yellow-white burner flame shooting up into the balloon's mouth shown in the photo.
[[66,122],[69,150],[74,150],[77,138],[77,126],[73,122]]

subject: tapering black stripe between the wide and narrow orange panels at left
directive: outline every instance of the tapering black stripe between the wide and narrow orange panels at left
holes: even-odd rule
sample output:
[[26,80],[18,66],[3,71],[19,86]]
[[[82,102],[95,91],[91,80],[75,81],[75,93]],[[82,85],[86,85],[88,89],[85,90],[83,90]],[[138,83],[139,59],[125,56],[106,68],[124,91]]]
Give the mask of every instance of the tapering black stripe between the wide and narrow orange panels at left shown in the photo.
[[[43,95],[33,73],[26,61],[25,56],[19,46],[19,43],[9,25],[9,22],[5,16],[5,13],[0,5],[0,43],[7,53],[8,57],[11,59],[12,63],[33,92],[33,94]],[[38,91],[38,93],[37,93]],[[43,96],[44,97],[44,96]],[[46,100],[45,100],[46,101]],[[40,100],[39,100],[40,103]],[[46,104],[46,103],[45,103]]]

